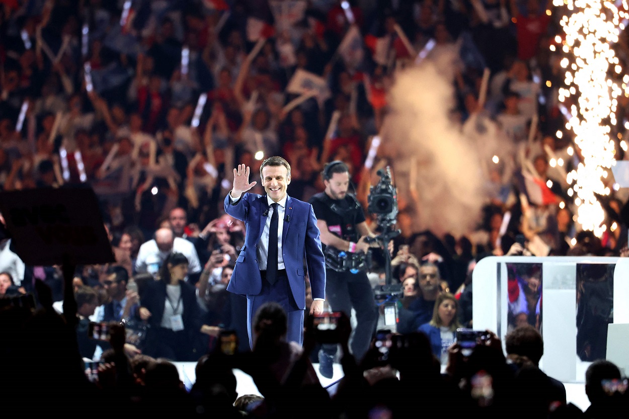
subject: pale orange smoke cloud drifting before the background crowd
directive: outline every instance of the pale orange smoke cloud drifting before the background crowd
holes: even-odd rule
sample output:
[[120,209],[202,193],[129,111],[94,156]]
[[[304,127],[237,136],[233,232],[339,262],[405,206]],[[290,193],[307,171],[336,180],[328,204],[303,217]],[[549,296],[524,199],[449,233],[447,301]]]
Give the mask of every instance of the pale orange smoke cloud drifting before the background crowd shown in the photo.
[[453,120],[451,75],[433,62],[401,70],[389,92],[382,129],[398,196],[415,206],[416,225],[442,237],[469,233],[484,204],[483,152]]

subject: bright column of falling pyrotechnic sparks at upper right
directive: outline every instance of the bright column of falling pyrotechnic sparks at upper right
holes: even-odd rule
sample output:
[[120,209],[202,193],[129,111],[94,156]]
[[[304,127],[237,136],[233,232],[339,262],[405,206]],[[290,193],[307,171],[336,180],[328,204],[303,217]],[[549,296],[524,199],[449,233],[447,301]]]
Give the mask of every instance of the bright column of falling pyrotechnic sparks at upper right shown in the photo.
[[[558,8],[565,4],[569,11],[560,21],[565,38],[555,40],[562,44],[565,53],[560,61],[565,69],[565,87],[559,88],[559,101],[570,108],[566,128],[574,132],[574,143],[582,155],[582,162],[567,176],[572,184],[568,194],[578,207],[577,222],[584,230],[593,230],[600,236],[606,230],[605,213],[596,194],[610,194],[603,181],[615,154],[610,126],[617,123],[616,98],[623,89],[627,94],[626,81],[620,80],[622,69],[611,45],[618,42],[620,20],[629,14],[610,1],[553,0],[553,4]],[[626,0],[622,4],[626,9]],[[618,80],[610,78],[610,74],[618,75]],[[572,148],[569,154],[572,155]]]

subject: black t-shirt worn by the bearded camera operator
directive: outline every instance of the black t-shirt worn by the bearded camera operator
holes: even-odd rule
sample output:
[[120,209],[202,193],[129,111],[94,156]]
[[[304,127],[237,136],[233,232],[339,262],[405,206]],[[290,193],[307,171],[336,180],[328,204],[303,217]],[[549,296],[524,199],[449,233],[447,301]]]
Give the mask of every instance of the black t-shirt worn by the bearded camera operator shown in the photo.
[[[365,214],[352,195],[347,194],[343,199],[332,199],[321,192],[310,198],[309,203],[315,210],[317,220],[325,221],[331,233],[348,242],[359,240],[356,226],[365,221]],[[325,245],[323,248],[325,249]]]

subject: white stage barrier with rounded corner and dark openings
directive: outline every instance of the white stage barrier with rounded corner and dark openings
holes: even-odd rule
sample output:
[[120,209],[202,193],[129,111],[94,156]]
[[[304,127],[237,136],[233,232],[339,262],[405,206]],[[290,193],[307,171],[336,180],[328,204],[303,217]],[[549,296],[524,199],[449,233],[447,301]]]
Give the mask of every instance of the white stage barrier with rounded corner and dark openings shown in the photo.
[[[515,264],[515,265],[512,265]],[[589,362],[577,356],[577,264],[615,265],[613,323],[629,323],[629,259],[619,257],[491,256],[474,268],[474,329],[496,332],[504,345],[508,325],[508,267],[518,264],[541,269],[542,309],[539,328],[544,339],[540,368],[564,383],[584,382]],[[522,293],[522,291],[521,291]],[[513,302],[512,302],[513,304]],[[534,318],[533,313],[530,318]],[[611,330],[611,328],[610,328]],[[608,349],[610,354],[615,349]]]

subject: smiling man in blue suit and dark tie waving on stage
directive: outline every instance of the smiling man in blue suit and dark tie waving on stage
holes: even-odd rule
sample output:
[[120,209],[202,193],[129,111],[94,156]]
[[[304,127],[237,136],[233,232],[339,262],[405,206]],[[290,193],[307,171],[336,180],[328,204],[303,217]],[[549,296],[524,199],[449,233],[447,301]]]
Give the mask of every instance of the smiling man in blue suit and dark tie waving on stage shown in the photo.
[[247,296],[247,330],[252,348],[253,317],[267,301],[282,305],[288,317],[286,340],[301,345],[306,308],[304,267],[308,269],[313,296],[310,313],[323,312],[325,259],[320,231],[312,205],[286,193],[291,183],[291,165],[286,160],[264,160],[260,177],[266,195],[245,193],[256,182],[249,183],[249,167],[238,165],[233,189],[225,197],[225,212],[244,221],[247,227],[245,245],[227,290]]

